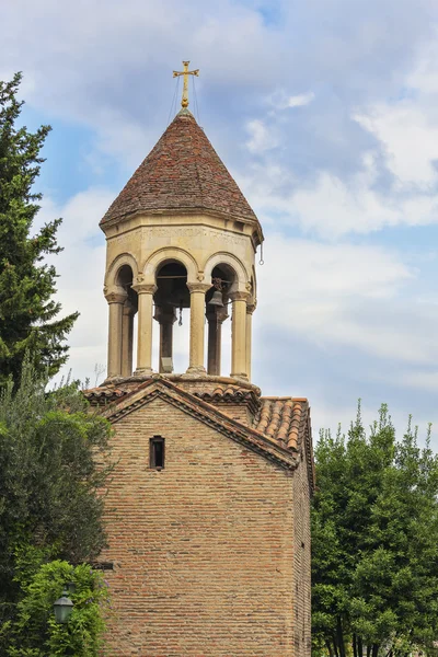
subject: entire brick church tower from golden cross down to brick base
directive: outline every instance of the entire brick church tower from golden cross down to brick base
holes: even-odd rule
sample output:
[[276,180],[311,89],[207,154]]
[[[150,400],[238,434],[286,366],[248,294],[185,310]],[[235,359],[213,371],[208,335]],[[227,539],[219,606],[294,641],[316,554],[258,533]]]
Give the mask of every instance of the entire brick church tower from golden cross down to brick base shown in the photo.
[[181,111],[101,221],[108,371],[84,395],[114,428],[107,645],[120,657],[310,657],[309,403],[251,382],[263,232],[187,108],[188,64],[174,72]]

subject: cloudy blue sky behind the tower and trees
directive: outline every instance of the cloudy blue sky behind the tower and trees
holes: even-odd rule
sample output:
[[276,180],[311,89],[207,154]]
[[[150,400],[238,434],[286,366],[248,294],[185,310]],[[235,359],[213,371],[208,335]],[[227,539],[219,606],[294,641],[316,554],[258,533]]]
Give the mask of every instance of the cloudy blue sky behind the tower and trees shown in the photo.
[[347,429],[359,397],[366,423],[388,403],[400,431],[408,414],[420,436],[435,423],[438,450],[436,0],[14,0],[1,13],[0,79],[23,71],[24,123],[53,126],[35,230],[64,218],[73,376],[104,379],[99,221],[173,118],[172,71],[189,59],[198,123],[266,238],[253,382],[307,396],[315,434]]

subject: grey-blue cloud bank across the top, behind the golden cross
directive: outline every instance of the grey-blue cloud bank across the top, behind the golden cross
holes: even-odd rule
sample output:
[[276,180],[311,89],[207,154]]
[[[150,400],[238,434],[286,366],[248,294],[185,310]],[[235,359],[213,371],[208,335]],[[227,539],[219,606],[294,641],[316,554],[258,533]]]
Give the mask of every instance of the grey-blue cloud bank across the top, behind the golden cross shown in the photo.
[[[242,124],[237,125],[233,99],[256,107],[285,81],[290,107],[310,103],[314,96],[306,89],[321,83],[343,89],[348,80],[354,92],[391,93],[434,13],[430,0],[404,0],[396,7],[391,0],[383,5],[360,1],[357,21],[348,0],[299,8],[280,0],[281,21],[273,26],[257,3],[232,0],[126,0],[123,5],[107,0],[104,10],[96,0],[16,0],[2,9],[2,70],[24,71],[27,103],[46,112],[51,123],[59,117],[91,127],[96,146],[126,158],[129,166],[165,127],[171,71],[184,56],[200,67],[205,114],[217,106],[233,122],[235,137]],[[321,11],[330,16],[323,23],[315,20]],[[291,33],[297,35],[292,42]],[[291,95],[290,90],[304,91]],[[324,112],[324,93],[318,96]],[[348,93],[344,101],[348,107]]]

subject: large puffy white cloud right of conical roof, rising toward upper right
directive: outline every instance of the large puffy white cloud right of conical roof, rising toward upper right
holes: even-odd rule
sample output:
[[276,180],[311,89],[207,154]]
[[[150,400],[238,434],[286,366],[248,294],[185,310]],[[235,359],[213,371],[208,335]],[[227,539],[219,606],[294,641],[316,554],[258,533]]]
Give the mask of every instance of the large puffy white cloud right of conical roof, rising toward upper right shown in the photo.
[[[399,89],[389,100],[364,102],[355,108],[347,106],[349,119],[369,135],[369,147],[356,146],[353,170],[342,172],[332,166],[342,164],[345,131],[336,126],[325,137],[327,126],[320,114],[311,116],[312,136],[318,136],[326,158],[304,178],[299,176],[300,160],[293,154],[293,139],[288,142],[288,129],[295,124],[284,123],[274,110],[267,119],[250,123],[254,137],[250,151],[262,162],[246,169],[242,176],[245,193],[261,217],[275,217],[283,226],[299,226],[328,240],[348,233],[367,234],[384,228],[417,227],[438,222],[438,48],[425,42],[417,59],[400,79]],[[301,105],[313,99],[311,92],[289,96],[284,90],[269,95],[270,107],[285,108],[291,103]],[[322,108],[321,108],[322,111]],[[267,129],[266,126],[269,126]],[[309,129],[309,127],[307,128]],[[322,132],[318,130],[321,129]],[[356,135],[355,130],[353,130]],[[272,139],[276,135],[276,140]],[[372,139],[371,139],[372,138]],[[337,140],[336,140],[337,139]],[[322,141],[323,140],[323,141]],[[308,138],[309,143],[312,143]],[[285,145],[281,152],[272,152],[269,143]],[[302,142],[298,141],[302,149]],[[364,142],[365,143],[365,142]],[[341,151],[337,151],[337,148]],[[351,152],[355,145],[351,143]],[[300,151],[302,152],[302,151]],[[328,154],[331,152],[331,155]],[[348,153],[348,157],[350,153]],[[302,162],[309,166],[306,151]]]

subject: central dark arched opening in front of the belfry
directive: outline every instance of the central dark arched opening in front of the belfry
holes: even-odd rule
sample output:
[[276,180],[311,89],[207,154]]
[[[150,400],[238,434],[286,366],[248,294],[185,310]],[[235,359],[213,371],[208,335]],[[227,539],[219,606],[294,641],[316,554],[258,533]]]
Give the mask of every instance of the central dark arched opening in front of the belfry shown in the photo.
[[[187,288],[187,269],[177,261],[162,263],[155,274],[157,291],[153,296],[153,318],[159,326],[158,371],[171,373],[174,369],[185,371],[183,361],[187,358],[188,325],[184,321],[191,308],[191,295]],[[177,333],[174,333],[174,325]],[[175,361],[175,362],[174,362]],[[176,366],[176,367],[175,367]]]

